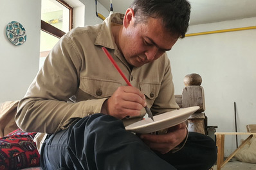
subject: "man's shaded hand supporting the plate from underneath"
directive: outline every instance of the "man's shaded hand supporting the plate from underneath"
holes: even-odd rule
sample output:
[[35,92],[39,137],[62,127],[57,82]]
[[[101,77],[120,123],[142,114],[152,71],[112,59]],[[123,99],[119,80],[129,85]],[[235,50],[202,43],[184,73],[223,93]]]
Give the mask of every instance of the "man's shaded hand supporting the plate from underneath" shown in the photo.
[[172,126],[164,134],[142,134],[140,138],[151,149],[159,151],[162,154],[168,153],[170,150],[178,146],[187,136],[186,124],[181,123]]

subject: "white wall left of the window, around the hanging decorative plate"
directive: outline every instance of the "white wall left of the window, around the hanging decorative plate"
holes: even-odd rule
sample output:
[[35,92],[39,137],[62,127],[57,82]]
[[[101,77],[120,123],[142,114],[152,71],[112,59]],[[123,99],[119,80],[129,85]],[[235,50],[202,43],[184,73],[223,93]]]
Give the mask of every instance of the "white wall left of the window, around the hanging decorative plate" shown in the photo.
[[[12,5],[15,4],[15,5]],[[39,67],[41,0],[1,0],[0,5],[0,102],[23,98]],[[14,46],[6,37],[8,22],[26,29],[26,42]]]

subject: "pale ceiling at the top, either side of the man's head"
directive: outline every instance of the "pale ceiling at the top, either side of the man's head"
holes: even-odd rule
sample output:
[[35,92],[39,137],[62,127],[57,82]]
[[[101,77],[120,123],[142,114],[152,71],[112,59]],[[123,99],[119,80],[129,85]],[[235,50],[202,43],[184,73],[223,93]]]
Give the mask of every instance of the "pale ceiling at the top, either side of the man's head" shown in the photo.
[[[190,25],[256,17],[256,0],[188,0]],[[98,0],[109,10],[110,0]],[[125,13],[133,0],[112,0],[114,12]]]

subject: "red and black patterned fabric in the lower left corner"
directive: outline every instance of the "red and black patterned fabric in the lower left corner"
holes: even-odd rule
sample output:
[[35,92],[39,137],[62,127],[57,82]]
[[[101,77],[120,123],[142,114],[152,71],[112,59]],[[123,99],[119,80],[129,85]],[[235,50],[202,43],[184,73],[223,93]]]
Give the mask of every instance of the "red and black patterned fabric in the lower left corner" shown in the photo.
[[35,132],[17,129],[0,138],[0,170],[39,166],[39,152],[33,138]]

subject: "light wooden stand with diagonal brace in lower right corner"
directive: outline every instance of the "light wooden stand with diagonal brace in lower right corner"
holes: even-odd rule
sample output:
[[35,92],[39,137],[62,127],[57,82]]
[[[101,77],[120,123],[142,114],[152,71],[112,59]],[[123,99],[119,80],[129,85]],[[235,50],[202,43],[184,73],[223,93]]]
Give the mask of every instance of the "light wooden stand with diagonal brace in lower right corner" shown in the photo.
[[[253,135],[256,135],[256,133],[246,133],[246,132],[215,132],[215,135],[217,137],[217,170],[221,170],[222,167],[224,167],[224,165],[226,163],[228,163],[228,161],[230,161],[230,159],[233,158],[233,156],[235,156],[235,153],[237,153],[237,151],[239,151],[239,149],[242,148],[242,146],[244,146],[247,142],[250,141],[250,139],[253,137]],[[244,140],[244,142],[242,142],[240,144],[240,146],[235,149],[235,151],[233,151],[233,153],[230,154],[230,156],[228,156],[228,158],[226,158],[226,160],[224,160],[224,138],[225,135],[249,135],[248,138],[246,138],[246,140]]]

